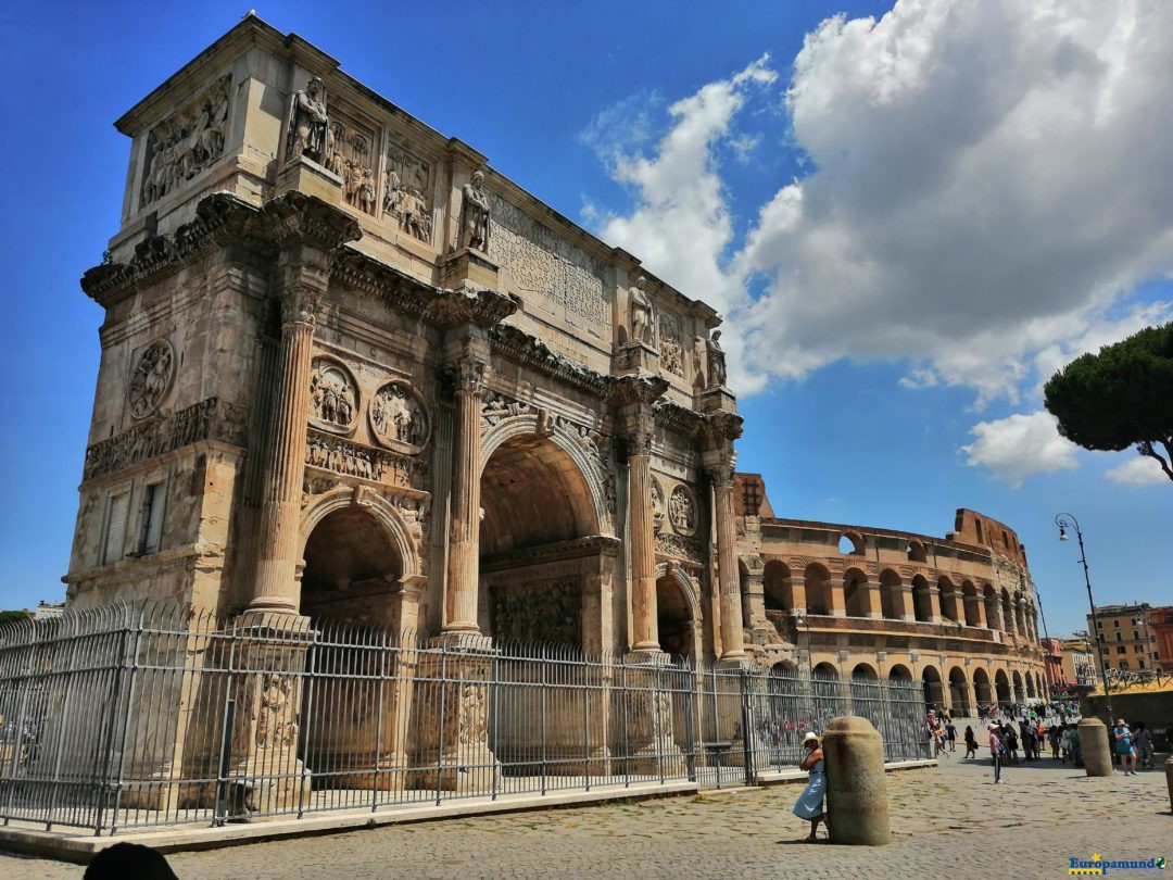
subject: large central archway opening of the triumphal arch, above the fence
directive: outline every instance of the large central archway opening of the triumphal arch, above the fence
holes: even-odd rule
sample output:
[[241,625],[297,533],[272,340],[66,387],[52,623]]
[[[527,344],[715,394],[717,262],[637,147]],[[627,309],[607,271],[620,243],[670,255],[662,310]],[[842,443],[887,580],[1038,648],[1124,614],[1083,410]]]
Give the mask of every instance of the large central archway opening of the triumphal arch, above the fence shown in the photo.
[[604,644],[602,584],[615,539],[582,448],[538,433],[537,417],[500,422],[484,438],[481,472],[481,631],[497,642],[590,650]]

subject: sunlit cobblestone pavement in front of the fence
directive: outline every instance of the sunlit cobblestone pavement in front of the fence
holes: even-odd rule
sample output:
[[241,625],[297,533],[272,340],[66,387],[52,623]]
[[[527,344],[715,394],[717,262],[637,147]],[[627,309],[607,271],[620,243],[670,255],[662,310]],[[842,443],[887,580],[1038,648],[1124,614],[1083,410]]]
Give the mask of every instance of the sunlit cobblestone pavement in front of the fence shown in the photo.
[[[895,840],[798,842],[800,786],[392,826],[169,857],[181,878],[957,878],[1067,876],[1067,860],[1173,858],[1164,773],[1089,779],[1045,759],[1006,767],[962,753],[888,776]],[[76,866],[0,855],[0,876],[77,878]],[[1154,872],[1128,871],[1144,876]]]

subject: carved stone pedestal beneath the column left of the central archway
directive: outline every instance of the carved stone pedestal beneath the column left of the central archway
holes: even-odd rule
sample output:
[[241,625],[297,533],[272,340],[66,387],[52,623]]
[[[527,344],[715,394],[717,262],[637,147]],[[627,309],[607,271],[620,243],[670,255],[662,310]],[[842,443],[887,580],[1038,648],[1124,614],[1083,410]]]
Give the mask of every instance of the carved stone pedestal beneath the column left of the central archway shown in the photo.
[[440,636],[421,656],[411,787],[455,792],[495,787],[501,769],[489,750],[493,663],[494,649],[483,636]]

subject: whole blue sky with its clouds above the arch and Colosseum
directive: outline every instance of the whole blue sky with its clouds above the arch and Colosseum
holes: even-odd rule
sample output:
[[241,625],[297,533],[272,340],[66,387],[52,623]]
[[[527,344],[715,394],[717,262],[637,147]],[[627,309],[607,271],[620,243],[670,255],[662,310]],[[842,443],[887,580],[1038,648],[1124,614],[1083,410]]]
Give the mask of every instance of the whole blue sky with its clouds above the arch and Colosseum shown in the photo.
[[[0,12],[15,390],[0,605],[63,595],[102,319],[77,279],[117,229],[129,155],[113,122],[246,11]],[[1067,446],[1038,392],[1071,357],[1173,314],[1168,6],[257,13],[720,307],[739,467],[765,475],[780,516],[943,535],[955,508],[982,510],[1018,530],[1063,635],[1086,611],[1052,523],[1071,510],[1101,602],[1173,602],[1173,485],[1131,453]]]

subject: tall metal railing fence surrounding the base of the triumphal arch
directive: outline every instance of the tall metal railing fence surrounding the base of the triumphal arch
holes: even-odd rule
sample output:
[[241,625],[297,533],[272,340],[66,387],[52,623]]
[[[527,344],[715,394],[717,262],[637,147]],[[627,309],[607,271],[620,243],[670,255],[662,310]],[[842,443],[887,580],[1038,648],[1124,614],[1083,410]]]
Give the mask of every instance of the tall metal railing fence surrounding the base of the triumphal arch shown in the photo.
[[0,818],[93,828],[755,784],[840,715],[928,758],[911,682],[111,605],[0,628]]

